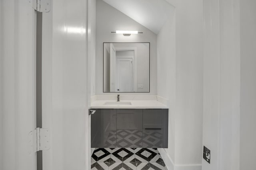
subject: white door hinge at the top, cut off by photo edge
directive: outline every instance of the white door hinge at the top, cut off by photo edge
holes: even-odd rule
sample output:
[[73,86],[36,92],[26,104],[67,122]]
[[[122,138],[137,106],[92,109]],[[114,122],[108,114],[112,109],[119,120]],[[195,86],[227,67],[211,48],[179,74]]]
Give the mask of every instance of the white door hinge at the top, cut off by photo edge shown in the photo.
[[32,8],[37,12],[50,12],[51,0],[28,0]]

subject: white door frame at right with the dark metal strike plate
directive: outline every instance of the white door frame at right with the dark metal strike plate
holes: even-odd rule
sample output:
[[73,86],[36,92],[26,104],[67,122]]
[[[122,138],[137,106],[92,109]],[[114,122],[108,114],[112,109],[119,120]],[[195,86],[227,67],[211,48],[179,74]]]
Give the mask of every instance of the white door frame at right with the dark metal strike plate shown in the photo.
[[203,170],[239,170],[239,11],[239,0],[204,0]]

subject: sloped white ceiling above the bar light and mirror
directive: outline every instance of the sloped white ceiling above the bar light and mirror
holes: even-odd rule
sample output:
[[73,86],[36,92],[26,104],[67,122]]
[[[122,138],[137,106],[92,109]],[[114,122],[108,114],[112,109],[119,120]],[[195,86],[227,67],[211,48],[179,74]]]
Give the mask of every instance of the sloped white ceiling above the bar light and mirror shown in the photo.
[[[158,34],[174,7],[166,0],[103,0],[144,27]],[[140,30],[138,30],[140,31]]]

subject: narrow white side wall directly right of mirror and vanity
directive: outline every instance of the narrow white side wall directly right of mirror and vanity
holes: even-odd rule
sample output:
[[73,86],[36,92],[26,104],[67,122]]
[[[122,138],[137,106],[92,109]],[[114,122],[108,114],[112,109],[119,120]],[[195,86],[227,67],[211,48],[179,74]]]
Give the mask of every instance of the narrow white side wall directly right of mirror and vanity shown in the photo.
[[[174,8],[174,7],[173,7]],[[174,8],[175,9],[175,8]],[[175,160],[175,11],[157,35],[157,95],[169,100],[168,154]]]

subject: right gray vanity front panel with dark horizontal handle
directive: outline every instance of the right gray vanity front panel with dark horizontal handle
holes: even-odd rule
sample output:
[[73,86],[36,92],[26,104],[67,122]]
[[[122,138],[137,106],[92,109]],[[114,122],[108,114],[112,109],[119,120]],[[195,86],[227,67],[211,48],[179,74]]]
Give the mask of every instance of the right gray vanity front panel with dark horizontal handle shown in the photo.
[[163,148],[164,109],[143,109],[143,148]]

